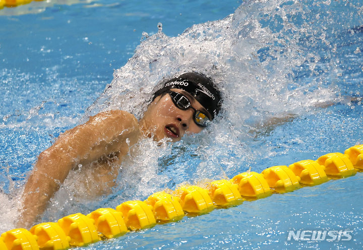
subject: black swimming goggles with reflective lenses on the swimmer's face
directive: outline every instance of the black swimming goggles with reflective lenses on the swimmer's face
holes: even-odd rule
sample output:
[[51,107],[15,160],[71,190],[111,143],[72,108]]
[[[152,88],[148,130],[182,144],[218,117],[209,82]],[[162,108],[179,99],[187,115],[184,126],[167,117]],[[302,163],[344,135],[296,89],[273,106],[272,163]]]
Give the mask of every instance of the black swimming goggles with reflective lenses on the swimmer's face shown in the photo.
[[207,115],[205,115],[203,112],[195,109],[192,104],[190,103],[189,99],[181,94],[181,93],[177,93],[177,92],[173,92],[173,91],[167,91],[166,93],[168,93],[171,97],[171,100],[173,101],[173,103],[175,104],[175,106],[179,109],[185,110],[188,108],[193,108],[194,109],[194,115],[193,115],[193,119],[194,122],[197,123],[198,126],[201,127],[207,127],[207,124],[209,122],[209,118]]

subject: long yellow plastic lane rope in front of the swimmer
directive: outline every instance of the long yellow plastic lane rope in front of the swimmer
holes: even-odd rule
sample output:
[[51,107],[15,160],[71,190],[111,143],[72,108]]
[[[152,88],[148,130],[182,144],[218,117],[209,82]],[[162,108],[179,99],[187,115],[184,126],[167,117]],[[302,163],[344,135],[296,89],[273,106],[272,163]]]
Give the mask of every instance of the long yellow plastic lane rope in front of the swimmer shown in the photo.
[[[1,0],[0,0],[1,1]],[[203,186],[183,185],[175,191],[152,194],[145,201],[127,201],[112,208],[99,208],[88,215],[72,214],[57,222],[45,222],[29,231],[17,228],[0,237],[2,250],[64,250],[86,246],[101,239],[124,235],[129,231],[180,220],[185,215],[202,215],[215,208],[237,206],[273,193],[292,192],[304,186],[346,178],[363,171],[363,145],[342,153],[329,153],[314,160],[302,160],[287,166],[244,172],[230,180],[222,179]]]

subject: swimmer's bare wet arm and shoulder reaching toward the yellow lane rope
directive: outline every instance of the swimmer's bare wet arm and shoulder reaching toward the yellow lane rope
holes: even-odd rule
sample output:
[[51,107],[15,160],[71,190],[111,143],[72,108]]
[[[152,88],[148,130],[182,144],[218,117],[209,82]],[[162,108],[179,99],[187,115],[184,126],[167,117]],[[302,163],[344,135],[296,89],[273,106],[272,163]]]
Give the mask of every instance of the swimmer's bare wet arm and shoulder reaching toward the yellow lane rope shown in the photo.
[[132,114],[111,110],[92,116],[40,153],[23,193],[19,226],[31,226],[76,164],[88,164],[114,152],[125,155],[139,137]]

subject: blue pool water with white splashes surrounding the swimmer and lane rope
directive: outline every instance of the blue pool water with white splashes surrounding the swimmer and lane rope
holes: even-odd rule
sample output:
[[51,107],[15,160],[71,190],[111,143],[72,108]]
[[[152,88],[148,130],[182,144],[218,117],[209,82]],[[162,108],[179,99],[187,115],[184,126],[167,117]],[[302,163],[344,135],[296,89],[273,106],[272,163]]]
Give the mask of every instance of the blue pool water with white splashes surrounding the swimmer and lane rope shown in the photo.
[[[43,221],[363,144],[362,4],[59,1],[0,10],[0,231],[15,227],[26,174],[60,133],[107,108],[140,117],[157,82],[179,71],[203,70],[216,80],[222,115],[183,142],[142,142],[143,154],[121,166],[110,196],[80,199],[70,178]],[[362,178],[185,217],[88,249],[360,249]],[[287,241],[288,230],[299,229],[351,230],[352,239]]]

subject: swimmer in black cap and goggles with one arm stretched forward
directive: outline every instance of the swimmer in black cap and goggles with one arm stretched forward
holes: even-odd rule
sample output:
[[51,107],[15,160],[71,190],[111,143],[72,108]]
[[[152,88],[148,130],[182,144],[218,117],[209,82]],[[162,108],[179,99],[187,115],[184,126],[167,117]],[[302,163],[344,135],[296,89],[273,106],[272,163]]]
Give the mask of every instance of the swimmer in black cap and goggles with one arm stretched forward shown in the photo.
[[60,135],[39,154],[25,184],[19,226],[30,227],[49,199],[78,165],[94,169],[100,191],[114,186],[118,168],[132,145],[141,138],[179,141],[184,134],[201,132],[220,110],[220,92],[211,79],[185,73],[166,80],[155,92],[143,118],[122,110],[110,110]]

